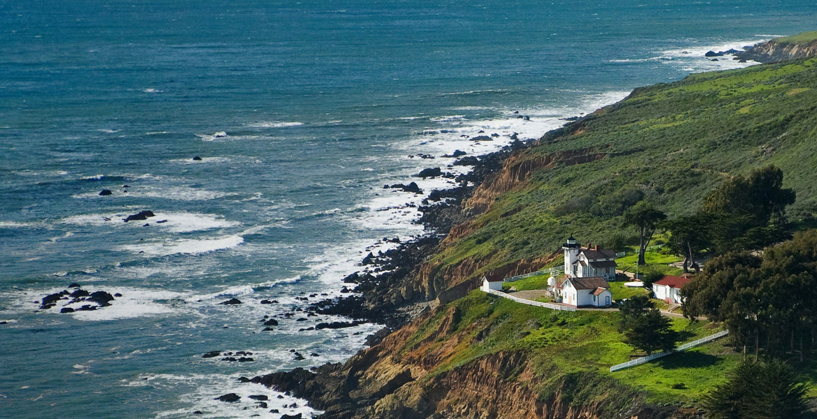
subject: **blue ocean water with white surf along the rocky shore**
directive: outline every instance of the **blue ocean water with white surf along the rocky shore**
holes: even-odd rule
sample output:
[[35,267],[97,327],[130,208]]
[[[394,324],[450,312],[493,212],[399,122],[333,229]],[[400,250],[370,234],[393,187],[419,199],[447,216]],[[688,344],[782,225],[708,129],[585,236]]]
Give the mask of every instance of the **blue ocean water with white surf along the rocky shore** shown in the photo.
[[[341,361],[377,330],[258,320],[422,233],[404,207],[422,197],[383,184],[736,68],[703,53],[815,17],[814,1],[0,1],[0,417],[310,415],[235,379]],[[462,137],[478,131],[499,137]],[[122,297],[37,310],[69,283]]]

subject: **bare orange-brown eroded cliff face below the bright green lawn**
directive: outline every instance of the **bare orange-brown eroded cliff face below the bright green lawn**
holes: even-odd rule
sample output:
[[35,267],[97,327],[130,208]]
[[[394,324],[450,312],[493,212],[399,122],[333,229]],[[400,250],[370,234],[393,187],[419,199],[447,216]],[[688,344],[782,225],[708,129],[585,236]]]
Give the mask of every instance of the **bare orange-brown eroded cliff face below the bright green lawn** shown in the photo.
[[[440,320],[425,335],[422,328],[431,319]],[[344,364],[252,381],[309,400],[325,410],[324,419],[667,419],[698,414],[650,406],[638,390],[594,372],[542,372],[525,351],[500,351],[458,364],[464,346],[491,333],[484,324],[461,327],[461,320],[456,306],[440,306]],[[450,367],[440,368],[445,365]]]

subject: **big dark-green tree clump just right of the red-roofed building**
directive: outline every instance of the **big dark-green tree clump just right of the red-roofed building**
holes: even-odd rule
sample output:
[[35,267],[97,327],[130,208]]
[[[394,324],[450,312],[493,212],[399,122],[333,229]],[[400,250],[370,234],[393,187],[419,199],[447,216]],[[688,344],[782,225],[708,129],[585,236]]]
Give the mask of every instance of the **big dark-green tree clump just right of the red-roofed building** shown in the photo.
[[718,256],[681,290],[685,314],[724,322],[736,346],[756,359],[797,357],[815,349],[817,336],[817,230],[768,247],[763,256]]

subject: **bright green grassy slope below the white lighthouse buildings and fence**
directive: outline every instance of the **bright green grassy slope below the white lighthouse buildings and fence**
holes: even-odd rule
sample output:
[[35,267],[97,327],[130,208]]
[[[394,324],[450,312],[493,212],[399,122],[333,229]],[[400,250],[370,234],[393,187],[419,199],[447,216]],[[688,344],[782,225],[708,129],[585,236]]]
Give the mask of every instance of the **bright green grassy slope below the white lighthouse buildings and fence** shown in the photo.
[[[610,366],[641,355],[622,342],[619,316],[617,311],[544,310],[474,291],[437,310],[395,356],[434,359],[423,379],[431,380],[488,354],[521,352],[538,366],[537,373],[511,379],[537,388],[543,399],[554,390],[551,383],[562,383],[565,377],[581,373],[589,374],[594,381],[614,382],[609,381],[614,378],[631,389],[645,390],[648,403],[676,405],[694,405],[741,359],[726,340],[720,340],[652,363],[609,372]],[[682,341],[721,330],[714,324],[690,323],[686,319],[672,319],[672,324],[681,332]],[[458,344],[452,347],[451,342]],[[812,384],[817,380],[808,372],[803,372],[801,378]],[[815,391],[812,387],[812,393]]]

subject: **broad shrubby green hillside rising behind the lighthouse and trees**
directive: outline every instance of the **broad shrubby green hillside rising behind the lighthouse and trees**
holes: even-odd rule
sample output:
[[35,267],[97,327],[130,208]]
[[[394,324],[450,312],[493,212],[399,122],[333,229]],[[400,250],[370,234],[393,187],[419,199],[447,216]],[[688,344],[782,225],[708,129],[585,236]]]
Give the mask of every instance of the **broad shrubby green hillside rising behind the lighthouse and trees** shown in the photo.
[[[648,199],[672,218],[694,212],[725,179],[776,164],[808,225],[817,208],[817,60],[693,74],[636,89],[542,137],[477,190],[477,216],[431,261],[434,280],[473,276],[583,243],[621,249],[636,231],[623,211]],[[486,203],[480,207],[477,203]],[[649,259],[649,257],[648,257]]]

